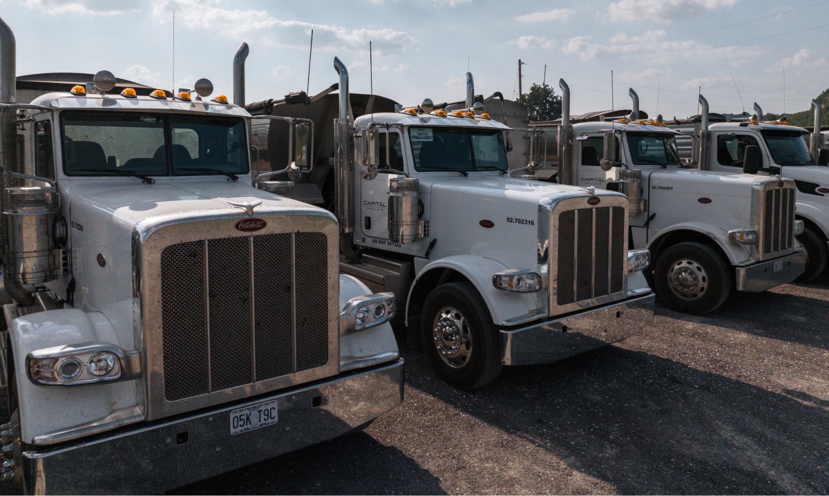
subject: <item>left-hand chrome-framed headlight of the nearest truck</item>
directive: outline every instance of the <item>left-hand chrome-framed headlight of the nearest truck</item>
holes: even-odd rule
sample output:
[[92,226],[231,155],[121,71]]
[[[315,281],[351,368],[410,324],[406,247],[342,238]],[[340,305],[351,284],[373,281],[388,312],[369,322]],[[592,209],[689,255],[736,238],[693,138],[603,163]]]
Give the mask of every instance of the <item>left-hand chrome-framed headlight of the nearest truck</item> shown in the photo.
[[44,348],[27,354],[29,380],[43,386],[79,386],[138,377],[138,352],[109,343]]

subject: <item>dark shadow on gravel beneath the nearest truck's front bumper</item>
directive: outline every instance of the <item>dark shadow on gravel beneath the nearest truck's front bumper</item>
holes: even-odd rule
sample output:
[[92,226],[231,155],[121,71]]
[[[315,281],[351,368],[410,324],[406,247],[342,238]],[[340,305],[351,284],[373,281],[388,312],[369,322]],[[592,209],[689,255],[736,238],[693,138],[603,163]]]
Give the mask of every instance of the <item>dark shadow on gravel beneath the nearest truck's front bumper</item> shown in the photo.
[[[371,430],[371,427],[369,427]],[[439,480],[366,432],[206,479],[168,494],[445,494]]]

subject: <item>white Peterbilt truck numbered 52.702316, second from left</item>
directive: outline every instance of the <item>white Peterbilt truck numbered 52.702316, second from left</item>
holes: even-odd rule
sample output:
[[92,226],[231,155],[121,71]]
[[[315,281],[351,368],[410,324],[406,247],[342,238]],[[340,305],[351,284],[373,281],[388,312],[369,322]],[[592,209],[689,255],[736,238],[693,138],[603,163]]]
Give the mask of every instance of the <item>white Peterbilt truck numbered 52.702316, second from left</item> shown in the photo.
[[482,387],[504,365],[649,325],[648,253],[628,250],[623,195],[508,177],[509,128],[473,107],[471,75],[463,110],[427,99],[354,119],[347,67],[334,67],[338,119],[316,129],[336,143],[341,270],[397,296],[408,341],[445,382]]

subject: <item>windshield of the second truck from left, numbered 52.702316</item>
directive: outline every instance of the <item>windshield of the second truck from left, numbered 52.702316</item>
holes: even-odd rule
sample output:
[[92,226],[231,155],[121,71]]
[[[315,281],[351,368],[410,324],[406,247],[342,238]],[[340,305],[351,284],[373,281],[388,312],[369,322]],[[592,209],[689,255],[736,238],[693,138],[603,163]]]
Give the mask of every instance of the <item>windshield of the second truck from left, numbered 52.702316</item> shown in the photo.
[[417,171],[507,170],[500,129],[410,128]]

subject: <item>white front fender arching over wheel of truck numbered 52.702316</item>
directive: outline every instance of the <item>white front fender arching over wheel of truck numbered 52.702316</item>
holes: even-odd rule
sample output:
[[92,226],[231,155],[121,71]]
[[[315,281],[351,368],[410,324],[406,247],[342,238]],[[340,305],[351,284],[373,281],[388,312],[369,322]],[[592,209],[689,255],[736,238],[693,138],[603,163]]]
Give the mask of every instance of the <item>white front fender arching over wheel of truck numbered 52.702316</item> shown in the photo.
[[[409,301],[406,301],[406,321],[410,319],[409,309],[414,288],[419,280],[431,270],[452,269],[463,275],[475,286],[487,305],[492,323],[504,325],[507,321],[529,314],[538,314],[539,310],[546,316],[547,291],[542,289],[536,293],[511,293],[496,289],[492,285],[492,274],[510,269],[534,269],[533,267],[508,267],[497,260],[476,255],[452,255],[434,260],[418,271],[417,277],[409,290]],[[536,269],[537,270],[537,269]]]

